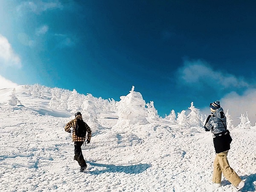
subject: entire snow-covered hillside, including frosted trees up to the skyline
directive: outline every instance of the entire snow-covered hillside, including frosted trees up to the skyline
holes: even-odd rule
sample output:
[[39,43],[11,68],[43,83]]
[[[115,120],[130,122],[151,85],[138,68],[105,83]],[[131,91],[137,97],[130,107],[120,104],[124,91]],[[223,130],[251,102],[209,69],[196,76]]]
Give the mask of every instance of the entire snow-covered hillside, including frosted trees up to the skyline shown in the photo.
[[[147,112],[134,90],[120,102],[39,85],[0,90],[0,191],[235,191],[226,178],[220,188],[207,182],[215,157],[209,132],[188,126],[189,119],[183,127],[152,111],[136,122],[138,108]],[[82,147],[86,173],[79,172],[71,135],[64,131],[78,109],[93,131],[91,143]],[[230,132],[230,166],[246,179],[241,191],[255,192],[255,127]]]

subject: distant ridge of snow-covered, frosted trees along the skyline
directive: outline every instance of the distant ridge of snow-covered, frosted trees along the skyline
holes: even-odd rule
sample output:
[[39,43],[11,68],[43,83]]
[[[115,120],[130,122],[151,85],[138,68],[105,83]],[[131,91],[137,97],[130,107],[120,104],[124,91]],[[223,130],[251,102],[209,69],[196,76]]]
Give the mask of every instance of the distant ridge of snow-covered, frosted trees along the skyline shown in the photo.
[[[113,99],[96,98],[91,94],[85,96],[77,93],[76,90],[70,91],[57,87],[50,88],[38,84],[20,85],[14,89],[0,90],[0,105],[16,105],[19,106],[16,107],[16,110],[25,107],[31,108],[39,114],[41,113],[41,115],[67,118],[76,113],[76,111],[83,111],[84,118],[95,128],[99,126],[97,116],[101,111],[104,111],[106,114],[116,113],[111,118],[117,120],[129,119],[130,123],[141,124],[148,123],[148,121],[165,120],[185,127],[201,127],[206,120],[206,115],[204,117],[203,115],[199,115],[200,110],[195,108],[193,102],[191,102],[191,106],[188,108],[190,110],[188,115],[185,115],[186,111],[183,110],[177,113],[176,118],[175,111],[172,110],[168,116],[166,115],[162,118],[157,114],[157,110],[154,108],[154,102],[151,101],[146,104],[142,95],[134,91],[134,86],[127,96],[120,96],[120,99],[119,102],[116,102]],[[33,102],[31,102],[32,100]],[[136,103],[137,106],[132,102]],[[31,103],[34,104],[31,105]],[[144,113],[145,115],[142,115]],[[104,116],[102,117],[104,118]],[[226,117],[228,129],[255,128],[255,126],[251,125],[247,112],[246,115],[241,113],[239,117],[240,123],[238,125],[232,125],[233,119],[228,110]],[[109,116],[106,118],[109,118]]]

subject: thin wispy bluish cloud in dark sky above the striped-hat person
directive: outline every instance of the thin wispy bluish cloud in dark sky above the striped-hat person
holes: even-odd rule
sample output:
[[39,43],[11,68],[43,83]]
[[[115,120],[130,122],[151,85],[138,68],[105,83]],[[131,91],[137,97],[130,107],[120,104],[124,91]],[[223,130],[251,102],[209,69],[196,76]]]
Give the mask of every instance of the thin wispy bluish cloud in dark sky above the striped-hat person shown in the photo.
[[178,78],[188,86],[204,87],[208,85],[213,89],[249,87],[249,84],[241,77],[229,73],[213,70],[206,62],[185,61],[184,67],[178,71]]

